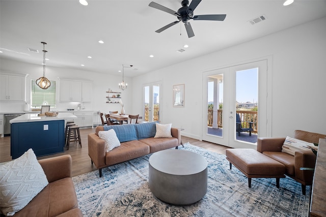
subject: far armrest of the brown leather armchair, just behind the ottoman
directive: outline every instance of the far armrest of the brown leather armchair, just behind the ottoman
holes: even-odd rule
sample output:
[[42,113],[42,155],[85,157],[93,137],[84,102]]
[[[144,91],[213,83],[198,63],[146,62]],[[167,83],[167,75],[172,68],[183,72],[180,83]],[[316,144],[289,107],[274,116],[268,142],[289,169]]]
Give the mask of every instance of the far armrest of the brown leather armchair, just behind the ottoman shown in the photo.
[[258,138],[257,139],[257,151],[282,151],[282,146],[285,138]]

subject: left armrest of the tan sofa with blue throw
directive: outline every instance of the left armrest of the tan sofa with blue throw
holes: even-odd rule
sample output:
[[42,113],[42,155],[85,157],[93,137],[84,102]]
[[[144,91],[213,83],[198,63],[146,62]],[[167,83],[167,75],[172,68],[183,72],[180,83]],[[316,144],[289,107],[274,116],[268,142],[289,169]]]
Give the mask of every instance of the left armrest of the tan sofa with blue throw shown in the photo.
[[105,142],[95,133],[88,134],[88,155],[98,169],[105,167]]

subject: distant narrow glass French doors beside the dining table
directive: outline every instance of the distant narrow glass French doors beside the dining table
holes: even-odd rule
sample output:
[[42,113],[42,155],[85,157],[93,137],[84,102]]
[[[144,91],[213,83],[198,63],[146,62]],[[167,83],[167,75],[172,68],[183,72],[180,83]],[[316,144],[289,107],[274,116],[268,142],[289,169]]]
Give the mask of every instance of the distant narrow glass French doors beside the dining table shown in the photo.
[[161,82],[154,82],[143,85],[144,90],[144,104],[143,104],[143,116],[144,121],[152,122],[159,120],[159,101]]

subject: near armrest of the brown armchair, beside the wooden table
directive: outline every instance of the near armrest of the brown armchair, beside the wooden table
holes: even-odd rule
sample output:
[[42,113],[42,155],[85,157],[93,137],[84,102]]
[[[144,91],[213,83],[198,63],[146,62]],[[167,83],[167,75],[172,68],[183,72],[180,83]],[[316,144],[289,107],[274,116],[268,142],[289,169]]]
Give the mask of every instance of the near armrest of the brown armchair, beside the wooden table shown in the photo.
[[300,170],[302,167],[314,169],[316,156],[311,150],[300,150],[294,152],[294,171],[297,179],[312,183],[314,171]]

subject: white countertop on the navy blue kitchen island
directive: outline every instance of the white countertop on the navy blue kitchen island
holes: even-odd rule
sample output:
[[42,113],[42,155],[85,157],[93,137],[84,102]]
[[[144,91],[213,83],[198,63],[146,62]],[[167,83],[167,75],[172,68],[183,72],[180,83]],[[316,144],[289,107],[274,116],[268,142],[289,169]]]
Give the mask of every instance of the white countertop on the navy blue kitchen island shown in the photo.
[[38,114],[23,114],[19,117],[10,120],[10,123],[20,123],[20,122],[33,122],[33,121],[48,121],[48,120],[64,120],[64,119],[71,119],[77,118],[77,116],[68,113],[62,112],[55,117],[47,117],[47,116],[38,116]]

